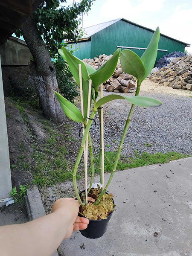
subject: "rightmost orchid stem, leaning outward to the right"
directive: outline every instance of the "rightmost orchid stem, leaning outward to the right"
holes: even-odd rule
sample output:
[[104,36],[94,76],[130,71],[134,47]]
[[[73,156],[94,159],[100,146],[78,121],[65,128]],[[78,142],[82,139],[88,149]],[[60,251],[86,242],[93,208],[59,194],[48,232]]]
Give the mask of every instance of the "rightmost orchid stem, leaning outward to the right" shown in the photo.
[[[140,84],[138,84],[138,86],[137,86],[137,90],[136,90],[135,96],[138,96],[139,92],[140,92]],[[116,153],[116,157],[115,157],[115,162],[114,162],[114,165],[113,165],[113,170],[112,170],[111,175],[110,175],[110,177],[109,177],[108,183],[106,184],[105,189],[103,189],[103,191],[102,191],[102,193],[100,194],[99,198],[98,198],[97,201],[95,202],[95,205],[99,204],[99,202],[101,201],[101,199],[102,199],[103,195],[105,194],[105,192],[107,191],[108,186],[110,185],[111,180],[112,180],[112,178],[113,178],[113,175],[114,175],[114,173],[115,173],[115,171],[116,171],[116,166],[117,166],[118,161],[119,161],[119,156],[120,156],[120,154],[121,154],[122,145],[123,145],[123,142],[124,142],[124,140],[125,140],[125,136],[126,136],[126,133],[127,133],[127,130],[128,130],[129,124],[130,124],[130,121],[131,121],[131,116],[132,116],[132,114],[133,114],[134,107],[135,107],[135,105],[132,104],[132,105],[131,105],[131,109],[130,109],[129,114],[128,114],[127,121],[126,121],[126,123],[125,123],[125,127],[124,127],[124,129],[123,129],[122,137],[121,137],[121,140],[120,140],[120,143],[119,143],[119,147],[118,147],[118,150],[117,150],[117,153]]]

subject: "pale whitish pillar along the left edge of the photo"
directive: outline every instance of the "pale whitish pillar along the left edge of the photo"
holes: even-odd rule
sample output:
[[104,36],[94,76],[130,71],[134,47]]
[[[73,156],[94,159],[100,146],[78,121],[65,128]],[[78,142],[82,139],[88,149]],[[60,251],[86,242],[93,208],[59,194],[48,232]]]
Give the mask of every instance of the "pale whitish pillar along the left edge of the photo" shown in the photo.
[[6,201],[9,201],[11,190],[12,181],[9,163],[9,145],[0,60],[0,206],[6,204]]

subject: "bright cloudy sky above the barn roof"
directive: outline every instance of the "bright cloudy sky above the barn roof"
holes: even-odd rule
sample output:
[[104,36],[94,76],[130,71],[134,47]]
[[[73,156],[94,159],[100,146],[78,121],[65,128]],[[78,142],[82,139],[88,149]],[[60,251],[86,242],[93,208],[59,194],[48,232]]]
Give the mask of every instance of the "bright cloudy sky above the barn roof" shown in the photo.
[[[95,0],[83,28],[117,18],[154,30],[159,26],[160,33],[192,44],[192,0]],[[192,53],[192,47],[186,50]]]

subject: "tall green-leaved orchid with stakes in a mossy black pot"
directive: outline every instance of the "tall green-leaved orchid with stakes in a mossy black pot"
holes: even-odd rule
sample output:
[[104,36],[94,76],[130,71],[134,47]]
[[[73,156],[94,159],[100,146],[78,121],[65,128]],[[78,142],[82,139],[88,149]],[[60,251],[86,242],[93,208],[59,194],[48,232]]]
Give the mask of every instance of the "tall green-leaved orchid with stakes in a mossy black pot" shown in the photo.
[[[81,230],[81,234],[88,238],[99,238],[107,230],[108,221],[114,211],[113,195],[106,193],[121,153],[122,145],[125,140],[125,135],[130,124],[131,116],[134,111],[134,107],[157,107],[162,103],[151,97],[139,96],[140,85],[142,81],[151,72],[154,67],[154,63],[157,58],[157,47],[160,38],[159,28],[154,32],[151,41],[141,56],[141,58],[129,49],[121,50],[117,49],[113,56],[105,62],[98,70],[95,70],[89,64],[84,63],[80,59],[73,56],[66,48],[59,49],[59,54],[67,61],[74,79],[80,87],[81,95],[81,111],[69,102],[59,93],[55,92],[55,96],[61,104],[64,113],[73,121],[82,123],[83,137],[79,154],[76,159],[76,163],[73,169],[73,186],[76,193],[76,198],[79,201],[79,215],[90,219],[90,224],[86,230]],[[118,94],[111,94],[108,96],[102,96],[102,89],[100,99],[99,97],[99,85],[107,81],[114,73],[116,65],[120,56],[120,62],[122,70],[125,73],[131,74],[137,80],[137,90],[135,96],[122,96]],[[105,103],[115,99],[122,99],[131,102],[131,108],[128,113],[128,118],[125,122],[125,126],[122,132],[122,137],[119,143],[118,150],[116,152],[115,162],[113,164],[113,171],[109,177],[108,182],[105,185],[104,180],[104,126],[103,126],[103,107]],[[90,106],[93,105],[90,113]],[[92,188],[94,177],[94,163],[93,163],[93,146],[90,136],[90,127],[93,123],[96,113],[99,114],[100,124],[100,150],[99,150],[99,176],[102,188]],[[89,188],[87,187],[87,162],[88,162],[88,149],[90,152],[90,165],[91,165],[91,181]],[[76,183],[76,172],[84,153],[84,168],[85,168],[85,190],[79,194]],[[98,230],[102,230],[99,232]]]

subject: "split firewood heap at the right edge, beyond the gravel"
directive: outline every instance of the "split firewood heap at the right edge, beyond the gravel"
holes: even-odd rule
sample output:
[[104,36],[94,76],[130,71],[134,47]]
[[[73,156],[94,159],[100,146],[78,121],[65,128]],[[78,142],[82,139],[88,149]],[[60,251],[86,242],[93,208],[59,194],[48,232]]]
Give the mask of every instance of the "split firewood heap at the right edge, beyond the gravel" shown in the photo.
[[166,67],[153,73],[149,79],[173,89],[192,90],[192,56],[175,58]]

